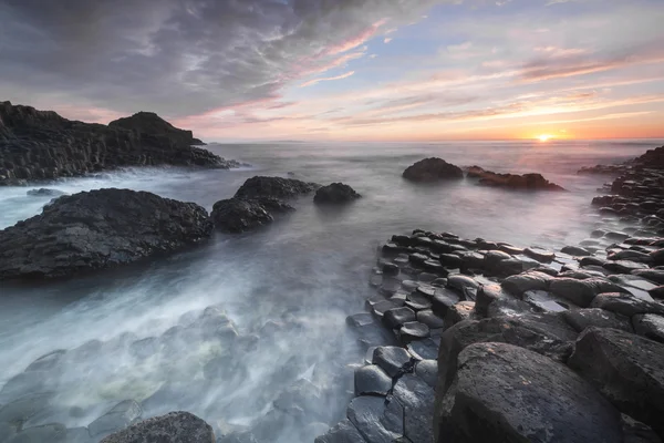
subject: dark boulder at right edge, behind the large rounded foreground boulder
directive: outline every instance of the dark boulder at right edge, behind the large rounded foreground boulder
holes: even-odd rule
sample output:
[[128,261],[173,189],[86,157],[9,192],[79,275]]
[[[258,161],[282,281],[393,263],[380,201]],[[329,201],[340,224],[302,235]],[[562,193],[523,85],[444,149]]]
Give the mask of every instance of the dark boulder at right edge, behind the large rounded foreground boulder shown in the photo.
[[664,344],[616,329],[587,329],[568,364],[621,412],[664,435]]

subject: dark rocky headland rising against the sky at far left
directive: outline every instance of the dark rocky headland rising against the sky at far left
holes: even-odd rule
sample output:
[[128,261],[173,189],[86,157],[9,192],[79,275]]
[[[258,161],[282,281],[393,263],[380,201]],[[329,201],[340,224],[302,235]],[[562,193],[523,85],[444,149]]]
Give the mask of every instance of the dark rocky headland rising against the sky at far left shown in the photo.
[[20,186],[128,166],[238,167],[209,151],[191,131],[139,112],[103,124],[0,102],[0,186]]

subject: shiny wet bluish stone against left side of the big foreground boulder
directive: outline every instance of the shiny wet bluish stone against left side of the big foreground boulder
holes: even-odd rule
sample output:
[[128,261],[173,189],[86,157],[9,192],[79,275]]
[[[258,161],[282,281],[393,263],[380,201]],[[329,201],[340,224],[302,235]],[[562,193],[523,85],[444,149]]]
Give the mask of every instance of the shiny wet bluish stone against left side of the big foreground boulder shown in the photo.
[[404,435],[412,442],[434,442],[434,389],[405,374],[394,385],[394,399],[404,408]]

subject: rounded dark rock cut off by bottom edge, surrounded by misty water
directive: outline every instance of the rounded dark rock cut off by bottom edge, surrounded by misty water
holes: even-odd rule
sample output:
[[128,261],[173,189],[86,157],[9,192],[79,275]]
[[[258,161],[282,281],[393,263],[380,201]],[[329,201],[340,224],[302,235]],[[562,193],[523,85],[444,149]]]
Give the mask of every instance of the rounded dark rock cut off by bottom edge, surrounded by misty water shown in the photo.
[[101,443],[215,443],[212,427],[188,412],[170,412],[108,435]]

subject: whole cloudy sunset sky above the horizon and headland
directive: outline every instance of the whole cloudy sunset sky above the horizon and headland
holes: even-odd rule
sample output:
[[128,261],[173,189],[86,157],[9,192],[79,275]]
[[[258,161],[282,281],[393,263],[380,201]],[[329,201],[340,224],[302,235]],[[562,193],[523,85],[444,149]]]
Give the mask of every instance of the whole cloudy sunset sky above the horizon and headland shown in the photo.
[[0,0],[0,100],[207,141],[664,137],[664,0]]

